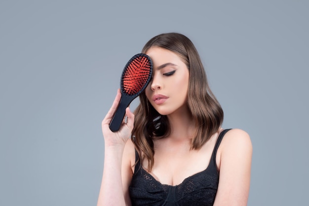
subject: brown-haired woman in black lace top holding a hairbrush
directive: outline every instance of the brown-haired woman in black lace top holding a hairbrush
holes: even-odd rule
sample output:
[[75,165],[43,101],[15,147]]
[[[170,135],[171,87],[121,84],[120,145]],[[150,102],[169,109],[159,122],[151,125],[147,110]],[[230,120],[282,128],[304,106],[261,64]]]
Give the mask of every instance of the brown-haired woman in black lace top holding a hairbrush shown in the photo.
[[[102,121],[104,171],[98,206],[246,206],[252,145],[223,130],[223,111],[186,36],[160,34],[144,46],[154,71],[118,132],[109,129],[120,100]],[[132,138],[130,138],[132,137]]]

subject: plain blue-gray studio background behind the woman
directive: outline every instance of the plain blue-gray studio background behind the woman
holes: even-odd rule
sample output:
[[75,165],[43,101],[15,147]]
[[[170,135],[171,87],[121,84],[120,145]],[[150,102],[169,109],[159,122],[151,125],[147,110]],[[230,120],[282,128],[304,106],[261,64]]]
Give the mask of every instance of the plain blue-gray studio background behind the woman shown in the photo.
[[0,205],[96,205],[101,121],[165,32],[192,39],[224,128],[251,136],[248,205],[307,205],[308,21],[307,0],[1,0]]

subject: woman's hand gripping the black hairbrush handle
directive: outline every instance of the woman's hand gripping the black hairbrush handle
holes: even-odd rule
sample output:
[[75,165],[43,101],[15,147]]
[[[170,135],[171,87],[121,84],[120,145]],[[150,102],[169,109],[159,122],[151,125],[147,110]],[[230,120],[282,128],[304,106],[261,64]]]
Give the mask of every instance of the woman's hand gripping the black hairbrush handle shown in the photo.
[[123,119],[119,131],[112,132],[110,130],[109,125],[112,121],[114,113],[116,112],[117,106],[120,102],[120,98],[121,98],[121,93],[120,93],[120,89],[118,89],[114,103],[112,104],[112,107],[107,112],[105,118],[102,121],[102,132],[103,132],[103,137],[105,140],[105,146],[108,146],[108,145],[115,146],[117,144],[124,145],[125,142],[131,136],[131,132],[134,127],[134,114],[130,111],[130,108],[127,107],[125,110],[126,118]]

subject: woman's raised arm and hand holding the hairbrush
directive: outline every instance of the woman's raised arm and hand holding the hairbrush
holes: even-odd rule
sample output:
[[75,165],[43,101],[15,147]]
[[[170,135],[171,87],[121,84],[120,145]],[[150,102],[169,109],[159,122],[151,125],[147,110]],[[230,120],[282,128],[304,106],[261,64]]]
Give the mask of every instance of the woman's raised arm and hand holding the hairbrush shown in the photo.
[[[102,121],[102,131],[105,142],[104,169],[97,206],[125,206],[128,203],[128,193],[130,173],[132,176],[131,163],[129,158],[122,158],[127,140],[129,139],[134,123],[134,114],[129,108],[126,109],[127,121],[123,122],[118,132],[112,132],[109,124],[120,101],[120,91],[118,90],[116,99]],[[123,169],[121,169],[123,167]],[[126,184],[126,185],[123,185]]]

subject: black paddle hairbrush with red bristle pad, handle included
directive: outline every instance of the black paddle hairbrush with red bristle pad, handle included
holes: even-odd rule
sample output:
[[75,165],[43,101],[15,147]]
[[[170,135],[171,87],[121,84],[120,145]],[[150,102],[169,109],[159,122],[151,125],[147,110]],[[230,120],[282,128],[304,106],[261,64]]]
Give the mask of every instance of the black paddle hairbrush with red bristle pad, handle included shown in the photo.
[[134,55],[125,65],[120,79],[121,99],[110,123],[113,132],[119,130],[125,109],[147,87],[153,73],[153,62],[146,54]]

